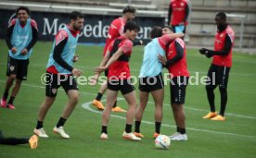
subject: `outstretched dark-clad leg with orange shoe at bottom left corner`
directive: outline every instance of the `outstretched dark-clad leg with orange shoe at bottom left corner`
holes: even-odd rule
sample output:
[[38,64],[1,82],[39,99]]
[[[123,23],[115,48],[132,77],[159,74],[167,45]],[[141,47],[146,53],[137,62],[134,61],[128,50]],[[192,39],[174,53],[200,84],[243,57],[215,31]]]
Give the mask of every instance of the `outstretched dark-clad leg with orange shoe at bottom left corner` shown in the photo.
[[27,144],[30,143],[32,149],[37,148],[38,146],[38,137],[36,135],[32,135],[31,138],[6,138],[4,137],[2,131],[0,130],[0,144],[6,145],[19,145],[19,144]]

